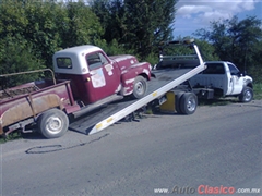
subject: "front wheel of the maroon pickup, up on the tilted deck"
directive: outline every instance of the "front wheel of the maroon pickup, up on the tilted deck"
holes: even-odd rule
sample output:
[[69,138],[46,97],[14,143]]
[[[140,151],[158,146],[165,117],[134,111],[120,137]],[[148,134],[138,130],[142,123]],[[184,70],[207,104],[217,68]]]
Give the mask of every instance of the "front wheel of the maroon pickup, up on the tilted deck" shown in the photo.
[[140,99],[144,97],[146,94],[146,90],[147,90],[146,79],[141,75],[136,76],[133,84],[133,94],[132,94],[133,98]]

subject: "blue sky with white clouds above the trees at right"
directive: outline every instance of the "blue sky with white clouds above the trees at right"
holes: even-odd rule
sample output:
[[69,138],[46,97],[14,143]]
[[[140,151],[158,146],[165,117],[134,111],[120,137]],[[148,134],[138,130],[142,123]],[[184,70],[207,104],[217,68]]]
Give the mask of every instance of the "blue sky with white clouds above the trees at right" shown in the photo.
[[247,16],[262,20],[262,0],[179,0],[174,36],[191,36],[196,29],[209,29],[210,22]]

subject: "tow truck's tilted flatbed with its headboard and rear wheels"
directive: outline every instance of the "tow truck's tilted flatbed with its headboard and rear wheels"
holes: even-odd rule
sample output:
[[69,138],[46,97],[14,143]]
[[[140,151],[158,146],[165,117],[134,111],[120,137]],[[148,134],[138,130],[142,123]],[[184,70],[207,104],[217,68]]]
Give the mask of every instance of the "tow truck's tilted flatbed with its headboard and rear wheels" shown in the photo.
[[[169,42],[166,42],[166,45],[168,44]],[[205,65],[199,48],[194,42],[187,40],[171,41],[171,44],[191,47],[191,49],[194,51],[194,54],[190,56],[189,59],[188,57],[184,58],[184,56],[169,57],[172,59],[172,61],[177,60],[179,68],[175,65],[172,69],[152,70],[152,73],[155,75],[155,77],[148,82],[148,89],[143,98],[139,100],[123,100],[110,103],[105,108],[102,108],[94,113],[87,114],[86,117],[83,117],[80,120],[71,123],[69,128],[87,135],[98,133],[128,115],[131,115],[131,119],[134,118],[133,113],[135,111],[140,110],[148,103],[152,103],[153,101],[156,101],[157,105],[166,105],[163,107],[163,110],[177,111],[183,114],[193,113],[196,109],[196,106],[194,106],[192,111],[190,111],[190,99],[183,102],[186,108],[189,107],[188,112],[178,109],[178,105],[181,105],[181,101],[179,101],[178,98],[181,99],[182,95],[184,95],[186,91],[180,91],[179,89],[175,89],[175,87],[178,87],[182,83],[202,72],[205,69]],[[187,68],[187,65],[189,65],[189,68]],[[167,96],[168,93],[169,95],[171,94],[171,96]],[[193,93],[191,95],[194,96]],[[176,98],[178,100],[175,100]],[[198,105],[198,101],[194,103]]]

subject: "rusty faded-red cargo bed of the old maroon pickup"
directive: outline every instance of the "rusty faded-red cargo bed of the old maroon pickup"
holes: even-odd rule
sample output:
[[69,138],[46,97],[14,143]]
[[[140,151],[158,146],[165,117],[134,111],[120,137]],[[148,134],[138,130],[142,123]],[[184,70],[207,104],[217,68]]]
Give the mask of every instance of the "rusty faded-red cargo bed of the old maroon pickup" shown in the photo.
[[38,81],[0,91],[0,135],[10,126],[59,107],[72,106],[70,81]]

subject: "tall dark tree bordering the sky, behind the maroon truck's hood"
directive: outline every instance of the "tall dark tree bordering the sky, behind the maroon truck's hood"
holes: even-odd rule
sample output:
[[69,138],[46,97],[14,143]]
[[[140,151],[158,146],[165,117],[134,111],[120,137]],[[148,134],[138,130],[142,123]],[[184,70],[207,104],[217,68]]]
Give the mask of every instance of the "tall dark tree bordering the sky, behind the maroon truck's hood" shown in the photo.
[[127,0],[123,42],[129,42],[144,59],[154,52],[158,42],[170,39],[175,20],[175,0]]

